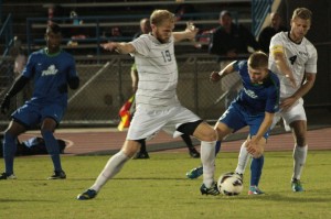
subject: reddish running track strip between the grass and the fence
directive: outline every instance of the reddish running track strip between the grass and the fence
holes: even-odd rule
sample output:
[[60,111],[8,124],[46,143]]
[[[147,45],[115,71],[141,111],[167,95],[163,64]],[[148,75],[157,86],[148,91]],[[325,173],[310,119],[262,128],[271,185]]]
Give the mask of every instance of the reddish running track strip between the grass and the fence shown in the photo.
[[[106,151],[119,150],[126,138],[126,131],[118,132],[115,129],[65,129],[57,130],[56,138],[63,139],[67,142],[65,150],[66,154],[89,154],[99,153]],[[24,141],[31,136],[40,135],[38,132],[28,132],[20,136],[21,141]],[[181,139],[173,139],[164,132],[160,132],[156,139],[148,142],[148,150],[153,146],[163,143],[181,142]],[[222,144],[222,151],[238,152],[243,140],[224,142]],[[317,130],[308,131],[309,150],[331,150],[331,128],[321,128]],[[162,151],[167,152],[185,152],[186,149],[182,142],[182,149],[167,150],[163,146]],[[199,149],[199,147],[197,147]],[[293,149],[293,139],[291,133],[282,133],[270,135],[266,151],[289,151]]]

